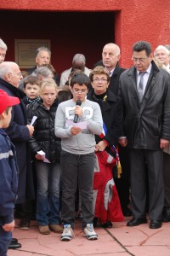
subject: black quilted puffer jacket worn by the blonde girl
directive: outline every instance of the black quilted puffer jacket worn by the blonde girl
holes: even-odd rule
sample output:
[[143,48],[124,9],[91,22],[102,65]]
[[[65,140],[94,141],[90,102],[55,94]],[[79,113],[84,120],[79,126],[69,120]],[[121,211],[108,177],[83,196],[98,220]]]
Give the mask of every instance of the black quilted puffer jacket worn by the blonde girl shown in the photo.
[[28,123],[31,123],[33,116],[37,116],[37,120],[34,123],[34,133],[30,138],[31,154],[35,157],[37,151],[42,150],[51,163],[60,161],[60,138],[54,135],[54,121],[57,107],[57,100],[55,100],[49,110],[42,102],[27,106]]

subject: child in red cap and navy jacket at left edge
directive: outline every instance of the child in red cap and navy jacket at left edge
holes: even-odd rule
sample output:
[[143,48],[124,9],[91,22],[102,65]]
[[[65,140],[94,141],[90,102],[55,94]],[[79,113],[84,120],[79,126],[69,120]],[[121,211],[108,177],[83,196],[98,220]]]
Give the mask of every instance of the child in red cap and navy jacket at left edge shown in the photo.
[[8,96],[0,90],[0,256],[6,256],[14,230],[14,201],[16,197],[18,168],[13,143],[3,131],[11,119],[12,106],[19,98]]

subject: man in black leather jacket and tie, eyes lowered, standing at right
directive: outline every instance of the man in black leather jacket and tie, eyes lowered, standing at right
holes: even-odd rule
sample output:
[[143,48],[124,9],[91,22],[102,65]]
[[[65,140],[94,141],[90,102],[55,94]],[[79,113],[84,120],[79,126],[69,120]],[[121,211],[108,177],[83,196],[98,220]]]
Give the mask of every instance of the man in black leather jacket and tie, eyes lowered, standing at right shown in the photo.
[[[119,142],[129,148],[133,218],[127,226],[147,223],[146,186],[149,182],[150,229],[161,228],[164,205],[163,148],[170,140],[170,79],[152,61],[150,43],[133,45],[133,67],[120,77],[124,134]],[[147,177],[145,175],[147,165]]]

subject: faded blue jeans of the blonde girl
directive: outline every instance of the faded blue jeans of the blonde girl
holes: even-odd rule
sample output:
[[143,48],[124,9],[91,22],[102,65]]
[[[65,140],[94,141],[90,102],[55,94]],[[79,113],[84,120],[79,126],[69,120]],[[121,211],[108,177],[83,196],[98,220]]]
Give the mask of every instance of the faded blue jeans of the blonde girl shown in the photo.
[[37,222],[59,224],[60,164],[36,162]]

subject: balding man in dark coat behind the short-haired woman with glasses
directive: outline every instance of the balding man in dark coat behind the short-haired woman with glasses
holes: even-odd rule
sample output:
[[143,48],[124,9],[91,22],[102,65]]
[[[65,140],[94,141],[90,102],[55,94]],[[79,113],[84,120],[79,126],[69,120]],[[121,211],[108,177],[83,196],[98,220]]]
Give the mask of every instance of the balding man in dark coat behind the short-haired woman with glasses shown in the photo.
[[[125,68],[119,67],[118,61],[121,58],[121,51],[117,44],[105,44],[102,52],[102,61],[97,62],[94,66],[104,66],[110,74],[109,90],[117,96],[119,88],[120,75],[125,71]],[[130,167],[127,148],[119,145],[119,154],[122,166],[121,178],[114,177],[116,189],[121,201],[122,213],[124,216],[131,216],[132,212],[128,208],[129,205],[129,180]]]

